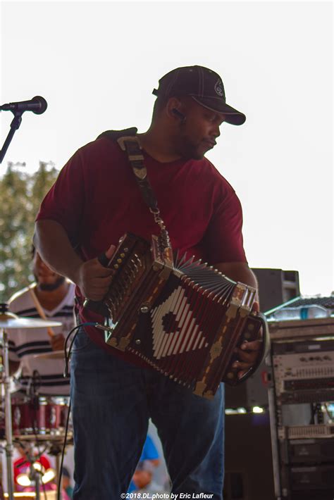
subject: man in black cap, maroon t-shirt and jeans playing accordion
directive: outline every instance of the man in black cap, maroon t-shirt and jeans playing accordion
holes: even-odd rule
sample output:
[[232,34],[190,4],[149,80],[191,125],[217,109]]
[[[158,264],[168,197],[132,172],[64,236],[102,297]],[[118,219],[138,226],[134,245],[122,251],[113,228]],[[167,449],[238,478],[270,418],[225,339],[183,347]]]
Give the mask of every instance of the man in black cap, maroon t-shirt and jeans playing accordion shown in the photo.
[[[240,201],[204,156],[221,125],[242,125],[245,115],[226,104],[221,77],[202,66],[172,70],[154,94],[151,125],[137,137],[173,250],[256,288],[243,249]],[[150,240],[156,224],[125,152],[100,137],[70,158],[37,215],[35,244],[51,268],[77,285],[80,323],[93,318],[85,299],[103,299],[113,280],[113,270],[98,256],[111,259],[125,232]],[[237,348],[238,377],[256,363],[260,344]],[[107,345],[92,325],[80,327],[75,339],[70,381],[75,500],[119,499],[127,492],[149,418],[159,431],[171,491],[222,499],[223,384],[213,399],[196,396],[130,352]]]

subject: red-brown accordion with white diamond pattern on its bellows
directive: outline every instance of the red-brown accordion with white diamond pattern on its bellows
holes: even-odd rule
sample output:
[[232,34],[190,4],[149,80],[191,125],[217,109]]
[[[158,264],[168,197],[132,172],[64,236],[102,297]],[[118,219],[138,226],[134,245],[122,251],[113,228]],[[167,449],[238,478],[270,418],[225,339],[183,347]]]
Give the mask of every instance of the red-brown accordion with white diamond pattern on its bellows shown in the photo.
[[161,237],[127,233],[109,262],[104,298],[107,344],[144,359],[199,396],[235,385],[235,348],[258,338],[256,290],[201,261],[178,259]]

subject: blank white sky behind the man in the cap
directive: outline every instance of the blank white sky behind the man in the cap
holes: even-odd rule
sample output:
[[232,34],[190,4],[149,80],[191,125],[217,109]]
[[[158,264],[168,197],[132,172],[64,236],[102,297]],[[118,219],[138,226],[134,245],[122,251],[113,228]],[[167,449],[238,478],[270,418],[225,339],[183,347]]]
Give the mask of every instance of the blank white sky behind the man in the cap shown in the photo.
[[61,168],[104,130],[144,132],[162,75],[215,70],[247,115],[207,156],[242,201],[249,265],[299,270],[304,294],[333,290],[331,2],[2,1],[1,61],[1,104],[49,105],[23,115],[3,171]]

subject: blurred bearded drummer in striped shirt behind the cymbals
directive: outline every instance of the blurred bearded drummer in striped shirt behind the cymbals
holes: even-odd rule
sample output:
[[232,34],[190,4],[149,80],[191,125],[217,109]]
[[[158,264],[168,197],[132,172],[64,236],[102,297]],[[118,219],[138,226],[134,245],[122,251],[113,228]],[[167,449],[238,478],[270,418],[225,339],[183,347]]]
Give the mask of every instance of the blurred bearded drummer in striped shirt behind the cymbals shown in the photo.
[[[63,349],[64,339],[74,325],[73,283],[54,273],[33,250],[33,272],[36,284],[32,285],[39,304],[48,320],[62,323],[54,327],[50,337],[47,328],[28,328],[9,331],[9,360],[11,373],[20,368],[15,378],[16,390],[30,394],[33,376],[35,387],[42,396],[67,396],[70,392],[69,377],[63,377],[62,358],[36,358],[35,355]],[[14,294],[9,301],[11,312],[26,318],[40,318],[30,287]]]

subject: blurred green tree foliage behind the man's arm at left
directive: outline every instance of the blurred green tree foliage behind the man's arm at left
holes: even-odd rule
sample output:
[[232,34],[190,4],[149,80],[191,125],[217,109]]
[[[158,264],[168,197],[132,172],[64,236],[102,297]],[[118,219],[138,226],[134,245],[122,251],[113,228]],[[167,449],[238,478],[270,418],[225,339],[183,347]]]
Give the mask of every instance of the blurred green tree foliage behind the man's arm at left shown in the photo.
[[54,163],[39,162],[35,173],[8,163],[0,179],[0,301],[33,280],[32,236],[39,205],[56,180]]

